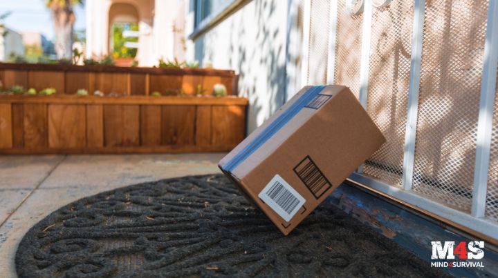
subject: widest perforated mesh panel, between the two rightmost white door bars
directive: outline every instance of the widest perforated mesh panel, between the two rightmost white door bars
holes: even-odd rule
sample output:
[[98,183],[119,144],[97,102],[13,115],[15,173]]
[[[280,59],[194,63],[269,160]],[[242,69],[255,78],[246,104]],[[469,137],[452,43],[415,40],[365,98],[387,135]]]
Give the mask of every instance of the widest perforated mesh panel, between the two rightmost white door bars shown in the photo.
[[413,190],[470,212],[487,1],[427,1]]

